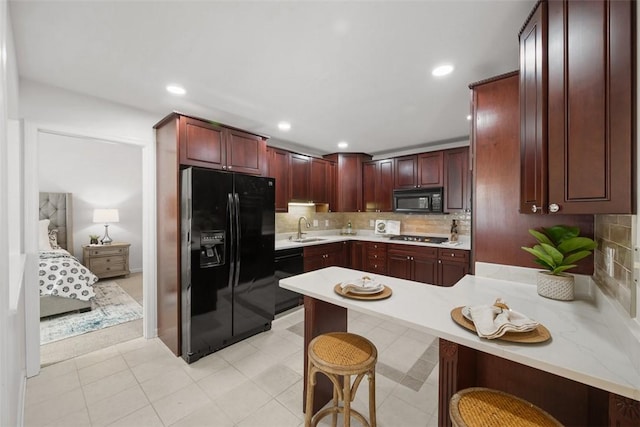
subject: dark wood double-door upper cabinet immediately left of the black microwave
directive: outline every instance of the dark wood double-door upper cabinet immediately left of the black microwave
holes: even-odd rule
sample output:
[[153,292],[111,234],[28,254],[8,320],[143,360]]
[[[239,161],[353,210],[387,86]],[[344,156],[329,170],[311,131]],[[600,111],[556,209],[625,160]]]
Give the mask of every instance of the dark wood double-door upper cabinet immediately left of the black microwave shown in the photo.
[[362,164],[362,193],[366,212],[393,211],[393,159]]

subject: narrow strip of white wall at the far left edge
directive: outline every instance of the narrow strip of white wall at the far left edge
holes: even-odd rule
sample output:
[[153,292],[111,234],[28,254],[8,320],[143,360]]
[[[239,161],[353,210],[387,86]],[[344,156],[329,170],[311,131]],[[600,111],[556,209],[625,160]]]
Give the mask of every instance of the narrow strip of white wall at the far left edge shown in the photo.
[[18,117],[18,80],[4,1],[0,2],[0,59],[0,425],[17,426],[22,425],[26,385],[24,256],[22,236],[9,233],[16,224],[10,223],[8,211],[23,200],[21,168],[9,167],[21,161],[22,140],[15,122],[12,137],[8,136],[8,119]]

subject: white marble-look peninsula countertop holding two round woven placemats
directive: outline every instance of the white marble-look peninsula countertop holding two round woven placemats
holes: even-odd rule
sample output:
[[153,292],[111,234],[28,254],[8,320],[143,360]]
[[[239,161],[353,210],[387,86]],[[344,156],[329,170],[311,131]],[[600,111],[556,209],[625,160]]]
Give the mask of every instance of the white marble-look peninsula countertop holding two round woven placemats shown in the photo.
[[[327,267],[280,280],[280,286],[306,296],[393,320],[439,338],[550,372],[634,400],[640,400],[640,373],[623,345],[636,340],[598,289],[589,298],[555,301],[543,298],[535,285],[467,275],[452,287],[439,287],[388,276],[375,278],[389,286],[388,299],[345,298],[334,286],[363,275],[357,270]],[[491,304],[502,298],[513,310],[543,324],[551,340],[520,344],[479,338],[451,318],[455,307]]]

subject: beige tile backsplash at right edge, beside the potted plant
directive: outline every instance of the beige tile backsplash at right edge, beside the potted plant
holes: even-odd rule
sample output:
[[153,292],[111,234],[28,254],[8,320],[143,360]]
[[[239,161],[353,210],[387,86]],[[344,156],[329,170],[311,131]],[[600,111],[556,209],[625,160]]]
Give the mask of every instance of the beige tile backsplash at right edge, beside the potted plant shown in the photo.
[[603,291],[611,295],[634,317],[636,292],[634,268],[634,215],[596,215],[593,278]]

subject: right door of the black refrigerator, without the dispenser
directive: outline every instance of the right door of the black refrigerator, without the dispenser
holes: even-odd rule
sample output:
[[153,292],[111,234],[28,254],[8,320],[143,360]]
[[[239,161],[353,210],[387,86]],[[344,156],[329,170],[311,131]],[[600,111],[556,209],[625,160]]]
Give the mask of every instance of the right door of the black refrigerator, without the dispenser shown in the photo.
[[239,225],[233,334],[239,336],[268,328],[274,318],[275,185],[273,178],[236,174],[234,179]]

